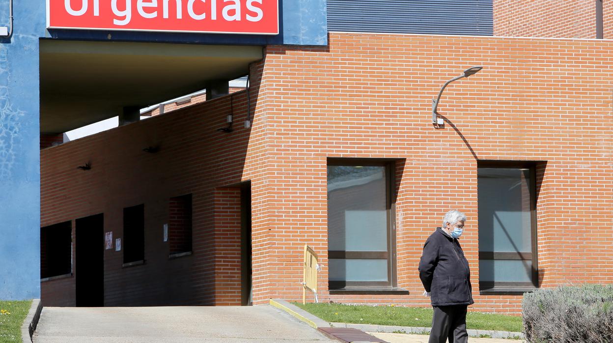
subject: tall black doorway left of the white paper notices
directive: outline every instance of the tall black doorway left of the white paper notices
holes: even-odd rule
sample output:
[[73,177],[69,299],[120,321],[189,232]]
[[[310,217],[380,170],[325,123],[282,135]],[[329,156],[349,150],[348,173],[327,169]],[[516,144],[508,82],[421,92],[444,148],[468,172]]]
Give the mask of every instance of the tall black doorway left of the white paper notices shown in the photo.
[[76,220],[77,306],[104,306],[104,215]]

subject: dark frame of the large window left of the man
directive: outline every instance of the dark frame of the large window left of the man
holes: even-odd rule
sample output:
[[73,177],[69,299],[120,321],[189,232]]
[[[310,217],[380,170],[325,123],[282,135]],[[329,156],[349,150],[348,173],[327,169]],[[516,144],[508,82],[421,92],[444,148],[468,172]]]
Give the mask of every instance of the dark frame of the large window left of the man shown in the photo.
[[[386,174],[386,213],[387,213],[387,252],[347,252],[344,250],[329,250],[330,258],[350,259],[381,259],[387,258],[387,281],[330,281],[328,289],[351,290],[364,288],[394,288],[397,285],[396,261],[396,202],[395,202],[395,166],[396,160],[387,158],[328,158],[328,166],[382,166]],[[327,193],[327,191],[326,191]],[[385,256],[385,257],[384,257]]]

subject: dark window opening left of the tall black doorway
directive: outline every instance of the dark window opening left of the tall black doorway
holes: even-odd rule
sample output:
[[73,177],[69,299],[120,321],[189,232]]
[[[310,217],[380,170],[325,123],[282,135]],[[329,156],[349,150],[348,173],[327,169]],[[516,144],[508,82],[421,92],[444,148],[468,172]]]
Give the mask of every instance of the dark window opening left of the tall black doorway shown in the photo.
[[72,272],[72,222],[40,228],[40,279]]

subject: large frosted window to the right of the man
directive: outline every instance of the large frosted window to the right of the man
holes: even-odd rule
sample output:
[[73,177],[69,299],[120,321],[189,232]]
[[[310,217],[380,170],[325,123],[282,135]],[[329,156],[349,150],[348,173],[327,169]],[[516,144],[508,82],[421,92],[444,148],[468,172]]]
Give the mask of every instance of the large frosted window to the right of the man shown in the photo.
[[479,163],[479,288],[538,287],[535,164]]

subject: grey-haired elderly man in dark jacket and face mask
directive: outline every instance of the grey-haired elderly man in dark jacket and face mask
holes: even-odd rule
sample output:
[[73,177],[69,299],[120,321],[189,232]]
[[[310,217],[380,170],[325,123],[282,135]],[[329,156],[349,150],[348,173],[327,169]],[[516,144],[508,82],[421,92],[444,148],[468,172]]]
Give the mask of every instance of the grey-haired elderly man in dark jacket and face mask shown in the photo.
[[424,294],[430,296],[434,316],[428,343],[466,343],[466,307],[474,304],[470,269],[458,238],[464,230],[466,215],[451,210],[443,227],[428,237],[419,261],[419,278]]

